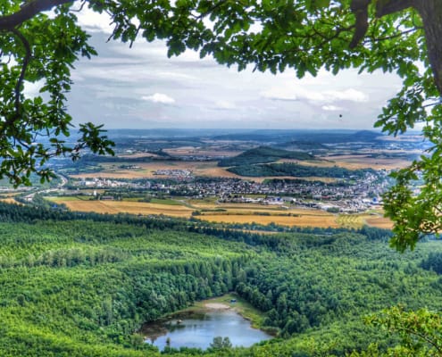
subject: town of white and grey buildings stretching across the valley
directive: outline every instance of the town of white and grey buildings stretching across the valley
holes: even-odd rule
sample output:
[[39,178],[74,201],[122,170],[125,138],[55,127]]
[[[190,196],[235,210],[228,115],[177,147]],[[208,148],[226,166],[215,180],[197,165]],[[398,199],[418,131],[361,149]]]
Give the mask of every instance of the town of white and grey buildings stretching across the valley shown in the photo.
[[[388,171],[367,170],[363,179],[340,179],[325,183],[306,179],[246,179],[195,177],[191,170],[157,170],[164,179],[77,179],[71,190],[61,188],[58,195],[79,195],[84,188],[105,190],[97,199],[116,199],[121,190],[168,197],[216,197],[217,203],[260,203],[329,212],[365,212],[381,203],[388,187]],[[95,194],[94,194],[95,192]]]

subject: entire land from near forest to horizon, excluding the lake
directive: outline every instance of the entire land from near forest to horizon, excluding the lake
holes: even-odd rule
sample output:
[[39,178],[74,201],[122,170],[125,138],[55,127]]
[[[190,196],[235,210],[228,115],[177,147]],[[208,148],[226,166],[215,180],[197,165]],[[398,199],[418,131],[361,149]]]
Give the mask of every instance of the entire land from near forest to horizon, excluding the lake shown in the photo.
[[[266,145],[253,136],[117,137],[115,156],[53,162],[59,177],[50,185],[2,187],[2,355],[393,351],[397,336],[365,323],[368,316],[442,303],[442,245],[429,236],[397,253],[382,212],[390,170],[423,153],[421,141],[393,150],[376,133],[341,133],[295,152],[272,135]],[[234,347],[229,328],[215,328],[204,347],[174,345],[178,335],[169,344],[162,337],[160,349],[149,343],[143,326],[206,299],[226,304],[224,296],[276,338]]]

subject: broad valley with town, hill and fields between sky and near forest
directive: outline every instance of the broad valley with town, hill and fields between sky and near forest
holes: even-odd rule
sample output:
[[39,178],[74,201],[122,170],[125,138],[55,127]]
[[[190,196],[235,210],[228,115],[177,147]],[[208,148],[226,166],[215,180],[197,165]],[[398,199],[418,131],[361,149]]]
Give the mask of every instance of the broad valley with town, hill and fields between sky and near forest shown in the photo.
[[381,209],[388,174],[426,148],[420,137],[350,130],[112,134],[115,156],[54,162],[65,181],[38,199],[79,212],[221,225],[391,228]]

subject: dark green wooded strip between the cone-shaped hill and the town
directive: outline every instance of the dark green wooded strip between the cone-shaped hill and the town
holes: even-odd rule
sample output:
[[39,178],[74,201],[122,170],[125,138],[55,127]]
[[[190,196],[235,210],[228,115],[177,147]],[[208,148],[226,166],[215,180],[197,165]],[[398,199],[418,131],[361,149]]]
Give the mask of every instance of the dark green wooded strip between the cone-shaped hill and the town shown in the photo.
[[334,167],[317,167],[304,166],[297,163],[282,162],[282,163],[267,163],[267,164],[243,164],[228,169],[230,172],[236,173],[240,176],[248,177],[263,177],[263,176],[295,176],[299,178],[308,177],[327,177],[336,179],[361,179],[365,172],[371,169],[364,170],[348,170],[338,166]]

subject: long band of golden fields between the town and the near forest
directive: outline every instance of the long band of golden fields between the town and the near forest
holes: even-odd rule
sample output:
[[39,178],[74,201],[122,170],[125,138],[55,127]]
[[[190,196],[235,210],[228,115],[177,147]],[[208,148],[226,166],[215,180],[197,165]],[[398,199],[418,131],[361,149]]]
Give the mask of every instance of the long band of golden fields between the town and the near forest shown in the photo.
[[391,228],[391,222],[380,214],[336,215],[320,210],[282,209],[256,203],[212,203],[188,200],[154,200],[151,203],[135,201],[96,201],[81,196],[46,197],[54,203],[63,203],[71,211],[98,213],[131,213],[190,218],[198,212],[198,220],[216,223],[275,223],[287,227],[361,228],[364,224],[378,228]]

